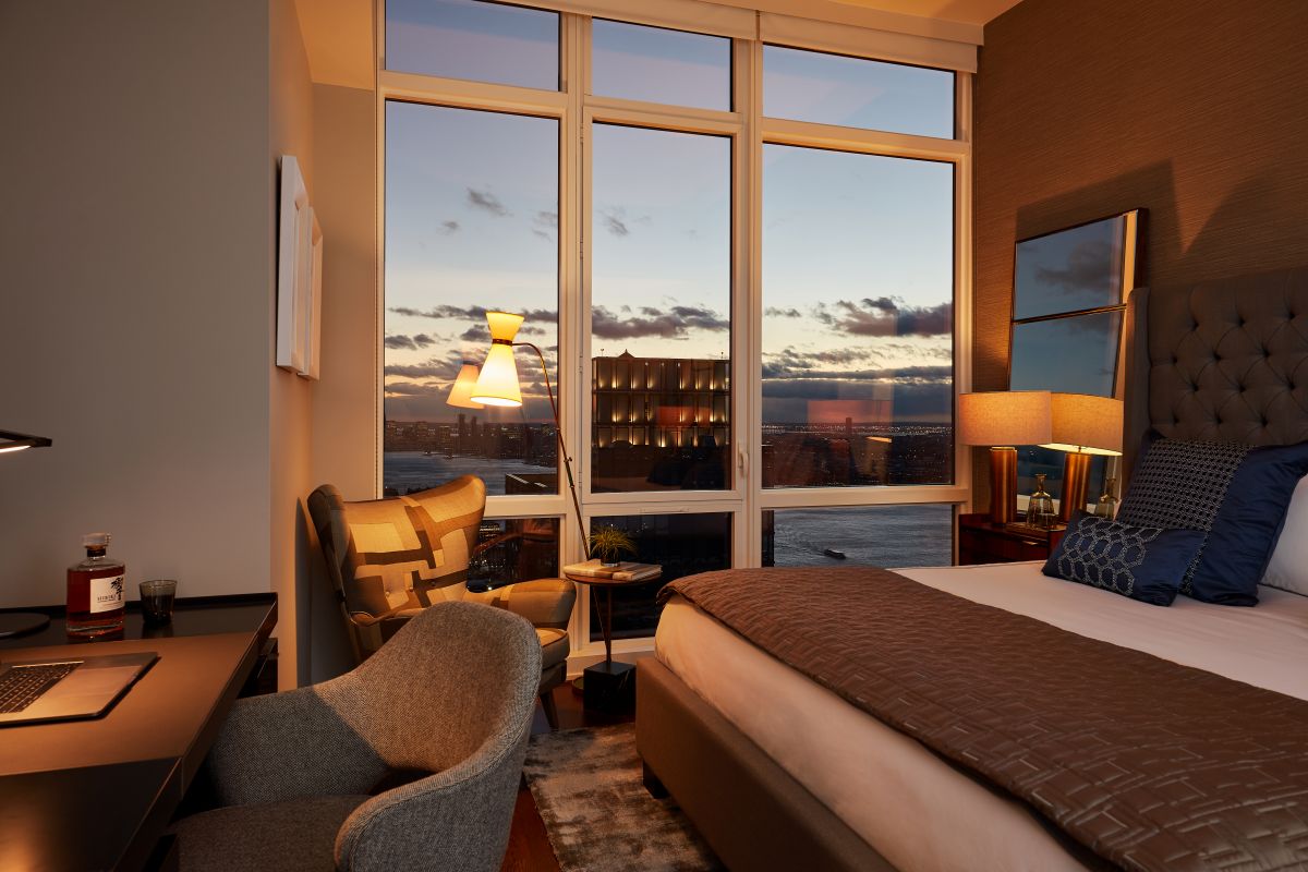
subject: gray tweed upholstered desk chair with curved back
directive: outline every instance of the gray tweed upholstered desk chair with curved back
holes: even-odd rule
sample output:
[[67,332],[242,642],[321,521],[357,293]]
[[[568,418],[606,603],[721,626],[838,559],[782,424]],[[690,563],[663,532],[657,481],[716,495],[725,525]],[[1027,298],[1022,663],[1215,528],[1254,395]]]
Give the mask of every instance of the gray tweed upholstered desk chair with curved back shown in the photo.
[[[498,869],[539,677],[527,621],[442,603],[339,679],[238,699],[208,757],[224,807],[177,824],[181,868]],[[369,795],[392,770],[434,774]]]

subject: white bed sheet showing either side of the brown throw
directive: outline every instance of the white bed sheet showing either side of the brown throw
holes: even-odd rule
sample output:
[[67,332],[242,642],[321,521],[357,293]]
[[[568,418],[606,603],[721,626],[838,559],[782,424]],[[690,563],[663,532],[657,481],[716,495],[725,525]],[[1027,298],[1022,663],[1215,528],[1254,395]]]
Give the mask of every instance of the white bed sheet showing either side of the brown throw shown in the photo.
[[[977,603],[1308,699],[1308,597],[1256,608],[1144,605],[1040,563],[899,570]],[[820,587],[815,596],[821,596]],[[942,645],[948,639],[942,638]],[[675,597],[655,656],[903,872],[1082,869],[1020,803],[993,794]]]

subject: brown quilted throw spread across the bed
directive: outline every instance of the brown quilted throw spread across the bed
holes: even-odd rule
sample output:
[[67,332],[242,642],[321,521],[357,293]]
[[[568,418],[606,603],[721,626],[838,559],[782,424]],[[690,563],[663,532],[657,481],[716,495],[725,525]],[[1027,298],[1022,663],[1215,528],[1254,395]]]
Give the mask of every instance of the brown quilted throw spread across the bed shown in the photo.
[[1113,864],[1308,868],[1308,702],[883,569],[671,591]]

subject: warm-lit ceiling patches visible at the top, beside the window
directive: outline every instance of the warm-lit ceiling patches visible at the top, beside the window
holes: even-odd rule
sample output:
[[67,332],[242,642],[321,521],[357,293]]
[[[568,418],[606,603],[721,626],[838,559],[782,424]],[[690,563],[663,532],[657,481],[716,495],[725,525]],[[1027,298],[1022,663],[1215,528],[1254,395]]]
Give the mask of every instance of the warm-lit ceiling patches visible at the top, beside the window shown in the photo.
[[[866,24],[862,18],[900,17],[906,30],[921,24],[942,22],[951,30],[959,25],[976,29],[972,42],[980,42],[980,29],[1020,0],[718,0],[726,5],[763,8],[786,14],[804,14],[827,7],[828,20]],[[841,8],[850,8],[840,13]],[[869,12],[862,12],[863,9]],[[315,82],[345,88],[371,89],[373,69],[373,3],[371,0],[296,0],[300,30],[309,54],[309,71]],[[835,13],[835,14],[831,14]],[[872,25],[875,26],[875,25]],[[884,25],[883,25],[884,26]],[[897,29],[897,27],[896,27]]]

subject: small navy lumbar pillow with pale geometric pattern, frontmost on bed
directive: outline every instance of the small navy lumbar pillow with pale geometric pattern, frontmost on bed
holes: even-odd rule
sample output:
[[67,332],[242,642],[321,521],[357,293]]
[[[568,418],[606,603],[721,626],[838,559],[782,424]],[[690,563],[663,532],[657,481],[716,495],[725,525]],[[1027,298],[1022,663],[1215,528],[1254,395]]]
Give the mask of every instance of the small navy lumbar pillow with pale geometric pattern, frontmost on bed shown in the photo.
[[1199,529],[1133,527],[1078,511],[1045,562],[1045,575],[1171,605],[1203,548]]

